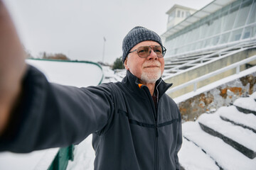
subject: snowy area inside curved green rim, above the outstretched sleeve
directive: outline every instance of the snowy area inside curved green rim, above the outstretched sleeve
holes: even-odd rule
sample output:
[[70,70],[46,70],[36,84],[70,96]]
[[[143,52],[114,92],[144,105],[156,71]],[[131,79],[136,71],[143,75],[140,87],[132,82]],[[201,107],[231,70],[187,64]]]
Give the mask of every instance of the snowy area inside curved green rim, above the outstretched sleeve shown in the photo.
[[68,86],[97,85],[102,79],[102,70],[95,64],[84,62],[59,62],[26,60],[43,72],[48,81]]

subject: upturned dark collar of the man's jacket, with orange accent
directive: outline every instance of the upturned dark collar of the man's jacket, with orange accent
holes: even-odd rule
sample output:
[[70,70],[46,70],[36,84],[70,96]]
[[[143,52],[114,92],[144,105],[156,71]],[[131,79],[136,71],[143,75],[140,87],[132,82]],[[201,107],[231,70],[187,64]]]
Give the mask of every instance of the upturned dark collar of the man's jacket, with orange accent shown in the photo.
[[[131,72],[127,70],[127,76],[122,79],[122,84],[127,86],[127,88],[139,95],[144,94],[143,88],[147,88],[145,85],[139,83],[139,79],[135,77]],[[172,84],[166,84],[163,79],[158,79],[156,81],[156,87],[159,91],[159,98],[172,86]]]

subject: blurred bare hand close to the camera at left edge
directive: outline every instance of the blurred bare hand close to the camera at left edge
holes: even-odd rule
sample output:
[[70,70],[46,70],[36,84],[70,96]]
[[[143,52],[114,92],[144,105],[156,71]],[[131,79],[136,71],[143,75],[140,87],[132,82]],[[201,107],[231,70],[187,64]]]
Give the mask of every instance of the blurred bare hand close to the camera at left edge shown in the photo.
[[21,93],[25,53],[6,6],[0,0],[0,135]]

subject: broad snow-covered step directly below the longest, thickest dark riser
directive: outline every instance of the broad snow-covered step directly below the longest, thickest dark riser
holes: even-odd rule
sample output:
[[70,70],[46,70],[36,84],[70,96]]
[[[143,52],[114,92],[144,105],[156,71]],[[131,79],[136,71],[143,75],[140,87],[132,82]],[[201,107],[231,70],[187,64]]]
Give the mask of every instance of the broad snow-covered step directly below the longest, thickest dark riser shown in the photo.
[[[255,170],[256,158],[249,159],[244,154],[238,152],[230,145],[220,140],[218,137],[209,135],[201,130],[198,122],[186,122],[182,124],[183,136],[201,147],[206,154],[209,154],[215,162],[225,170]],[[255,141],[250,141],[254,143]]]

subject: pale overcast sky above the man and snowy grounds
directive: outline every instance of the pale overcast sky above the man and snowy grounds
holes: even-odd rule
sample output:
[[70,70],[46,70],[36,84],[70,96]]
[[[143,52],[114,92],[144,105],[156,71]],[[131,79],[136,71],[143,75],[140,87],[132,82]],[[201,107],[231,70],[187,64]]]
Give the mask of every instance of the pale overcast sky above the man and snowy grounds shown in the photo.
[[122,56],[122,39],[144,26],[166,31],[174,4],[201,9],[212,0],[4,0],[26,49],[63,53],[71,60],[112,63]]

